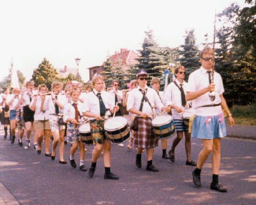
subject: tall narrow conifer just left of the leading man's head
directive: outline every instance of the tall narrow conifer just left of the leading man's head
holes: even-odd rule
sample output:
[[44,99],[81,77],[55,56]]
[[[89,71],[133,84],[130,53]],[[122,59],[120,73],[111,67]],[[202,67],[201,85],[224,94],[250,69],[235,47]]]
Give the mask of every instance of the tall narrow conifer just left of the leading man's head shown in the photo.
[[196,39],[194,35],[194,29],[186,31],[185,44],[180,46],[179,54],[180,58],[177,60],[180,62],[182,66],[186,68],[186,79],[189,74],[200,67],[199,59],[200,59],[200,51],[196,46]]

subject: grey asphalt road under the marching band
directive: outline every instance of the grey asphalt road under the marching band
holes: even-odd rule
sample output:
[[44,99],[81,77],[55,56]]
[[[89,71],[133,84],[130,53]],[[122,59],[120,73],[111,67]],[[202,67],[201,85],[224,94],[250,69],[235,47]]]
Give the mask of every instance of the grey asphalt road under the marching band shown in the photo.
[[[2,132],[0,136],[2,136]],[[168,150],[174,137],[169,138]],[[44,150],[38,155],[31,147],[19,147],[17,141],[0,139],[0,182],[19,204],[90,204],[90,205],[169,205],[169,204],[256,204],[256,141],[237,138],[222,139],[222,159],[219,180],[227,193],[210,190],[211,157],[202,169],[202,187],[192,183],[194,167],[185,165],[184,139],[177,146],[176,162],[162,159],[161,147],[155,149],[153,164],[158,173],[146,171],[146,153],[142,154],[142,169],[135,165],[136,149],[131,151],[113,144],[111,172],[119,180],[104,180],[102,156],[93,178],[79,167],[69,164],[70,145],[65,146],[67,165],[59,163],[59,153],[52,161]],[[159,143],[160,145],[160,143]],[[196,161],[202,148],[192,139],[192,159]],[[93,146],[87,146],[85,165],[91,165]],[[79,153],[75,153],[79,163]],[[1,184],[0,183],[0,184]]]

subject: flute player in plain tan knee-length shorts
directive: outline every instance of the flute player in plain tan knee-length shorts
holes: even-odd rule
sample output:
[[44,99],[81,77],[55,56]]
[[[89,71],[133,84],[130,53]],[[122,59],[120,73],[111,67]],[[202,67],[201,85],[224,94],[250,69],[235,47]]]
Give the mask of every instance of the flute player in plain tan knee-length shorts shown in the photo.
[[45,156],[50,157],[50,122],[48,110],[44,109],[44,103],[48,88],[45,84],[38,86],[38,93],[34,91],[33,100],[30,103],[30,109],[34,114],[34,141],[37,142],[37,154],[41,154],[43,136],[45,137]]

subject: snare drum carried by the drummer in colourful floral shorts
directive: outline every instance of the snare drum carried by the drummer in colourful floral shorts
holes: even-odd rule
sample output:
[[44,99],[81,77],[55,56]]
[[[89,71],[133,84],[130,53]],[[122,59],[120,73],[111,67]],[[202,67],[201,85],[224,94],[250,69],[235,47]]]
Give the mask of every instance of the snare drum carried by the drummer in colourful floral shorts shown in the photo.
[[127,141],[130,137],[127,119],[122,116],[110,118],[104,122],[106,137],[113,143]]

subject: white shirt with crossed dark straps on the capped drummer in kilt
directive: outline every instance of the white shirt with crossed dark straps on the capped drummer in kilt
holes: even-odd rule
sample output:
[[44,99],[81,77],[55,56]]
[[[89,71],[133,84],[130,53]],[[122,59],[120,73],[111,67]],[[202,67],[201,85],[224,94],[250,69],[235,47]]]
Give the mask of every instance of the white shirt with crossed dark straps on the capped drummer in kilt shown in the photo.
[[[140,109],[140,104],[143,98],[143,94],[139,89],[142,89],[142,88],[138,86],[137,88],[134,88],[132,91],[129,92],[128,99],[127,99],[127,106],[126,106],[127,111],[129,111],[131,108],[134,108],[135,110]],[[162,107],[164,106],[159,96],[157,95],[157,92],[153,88],[150,88],[147,86],[145,89],[147,89],[146,97],[150,102],[150,105],[152,107],[155,106],[157,107],[157,109],[161,110]],[[142,107],[142,113],[146,113],[149,115],[153,114],[153,110],[151,109],[150,105],[148,102],[144,101],[143,107]]]

